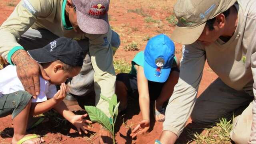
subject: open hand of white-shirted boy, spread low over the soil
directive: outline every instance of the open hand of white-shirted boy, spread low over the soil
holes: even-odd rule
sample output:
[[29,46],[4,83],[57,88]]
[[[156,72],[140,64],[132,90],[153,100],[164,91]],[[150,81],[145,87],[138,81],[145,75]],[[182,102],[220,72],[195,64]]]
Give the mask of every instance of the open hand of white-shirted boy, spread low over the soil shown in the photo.
[[[92,122],[90,120],[86,120],[84,119],[88,114],[84,114],[84,115],[74,115],[72,117],[72,119],[70,120],[70,122],[76,127],[76,129],[78,130],[79,134],[82,134],[81,130],[84,131],[84,133],[88,134],[88,132],[84,129],[84,126],[86,128],[91,128],[88,124],[91,124]],[[81,129],[81,130],[80,130]]]

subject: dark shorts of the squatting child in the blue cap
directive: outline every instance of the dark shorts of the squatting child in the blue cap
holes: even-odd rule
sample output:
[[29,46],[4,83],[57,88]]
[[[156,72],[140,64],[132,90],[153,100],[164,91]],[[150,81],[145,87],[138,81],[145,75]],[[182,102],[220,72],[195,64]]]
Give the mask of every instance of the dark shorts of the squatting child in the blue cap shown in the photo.
[[[172,68],[172,71],[180,72],[178,68]],[[126,85],[129,95],[138,92],[137,76],[127,73],[120,73],[116,75],[116,80],[121,81]],[[148,80],[148,91],[150,100],[156,100],[158,98],[164,84],[165,82],[152,82]]]

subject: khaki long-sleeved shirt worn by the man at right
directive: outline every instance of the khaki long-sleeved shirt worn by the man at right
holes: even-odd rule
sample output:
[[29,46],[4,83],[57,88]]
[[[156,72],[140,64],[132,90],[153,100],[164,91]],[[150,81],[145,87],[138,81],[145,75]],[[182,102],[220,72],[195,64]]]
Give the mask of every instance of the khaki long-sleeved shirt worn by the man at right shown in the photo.
[[[218,39],[207,47],[200,42],[183,45],[180,78],[166,109],[163,130],[180,136],[196,101],[205,60],[231,88],[252,90],[253,82],[256,80],[256,1],[240,0],[235,6],[238,10],[238,26],[228,42]],[[253,115],[256,125],[255,100]],[[254,128],[254,133],[255,130]]]

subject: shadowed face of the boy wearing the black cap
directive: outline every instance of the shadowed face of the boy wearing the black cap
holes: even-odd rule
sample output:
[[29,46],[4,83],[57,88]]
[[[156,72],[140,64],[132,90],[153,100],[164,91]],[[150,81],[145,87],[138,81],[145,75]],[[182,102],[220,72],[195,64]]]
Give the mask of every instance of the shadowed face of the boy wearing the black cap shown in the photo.
[[80,70],[81,67],[75,67],[71,72],[68,72],[63,70],[62,64],[56,64],[47,74],[51,84],[61,84],[62,82],[66,82],[68,78],[78,75]]

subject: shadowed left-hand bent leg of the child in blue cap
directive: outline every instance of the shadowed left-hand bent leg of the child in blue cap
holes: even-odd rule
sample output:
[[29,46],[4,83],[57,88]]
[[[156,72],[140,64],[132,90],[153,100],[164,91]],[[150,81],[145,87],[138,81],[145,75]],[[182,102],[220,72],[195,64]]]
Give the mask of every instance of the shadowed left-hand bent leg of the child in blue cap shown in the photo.
[[116,75],[116,96],[120,101],[120,112],[127,107],[128,93],[132,93],[135,90],[138,90],[136,76],[126,73]]

